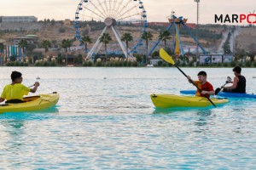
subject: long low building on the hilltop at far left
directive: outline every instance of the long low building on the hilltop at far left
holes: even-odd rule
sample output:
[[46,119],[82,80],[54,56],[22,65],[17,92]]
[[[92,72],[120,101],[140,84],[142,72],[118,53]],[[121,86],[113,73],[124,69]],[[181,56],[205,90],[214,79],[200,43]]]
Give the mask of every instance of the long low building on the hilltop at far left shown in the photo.
[[35,16],[0,16],[1,23],[38,22]]

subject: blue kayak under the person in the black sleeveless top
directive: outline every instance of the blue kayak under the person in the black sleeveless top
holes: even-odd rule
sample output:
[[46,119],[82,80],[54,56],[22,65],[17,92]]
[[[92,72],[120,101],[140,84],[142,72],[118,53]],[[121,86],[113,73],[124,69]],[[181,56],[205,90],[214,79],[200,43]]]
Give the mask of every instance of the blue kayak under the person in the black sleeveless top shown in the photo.
[[[180,93],[181,94],[195,94],[195,90],[181,90]],[[225,98],[253,98],[253,99],[256,99],[256,94],[219,92],[218,96],[222,96]]]

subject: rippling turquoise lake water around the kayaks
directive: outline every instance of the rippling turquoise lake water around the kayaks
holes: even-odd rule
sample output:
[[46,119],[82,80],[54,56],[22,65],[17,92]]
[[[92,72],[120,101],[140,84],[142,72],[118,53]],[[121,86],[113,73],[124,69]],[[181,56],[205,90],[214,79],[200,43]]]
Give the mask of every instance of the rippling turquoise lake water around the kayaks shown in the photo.
[[[255,169],[256,99],[230,99],[216,109],[155,110],[149,94],[193,88],[175,68],[2,67],[37,94],[61,94],[55,108],[0,115],[2,169]],[[208,73],[214,88],[231,69]],[[256,93],[256,69],[243,69]]]

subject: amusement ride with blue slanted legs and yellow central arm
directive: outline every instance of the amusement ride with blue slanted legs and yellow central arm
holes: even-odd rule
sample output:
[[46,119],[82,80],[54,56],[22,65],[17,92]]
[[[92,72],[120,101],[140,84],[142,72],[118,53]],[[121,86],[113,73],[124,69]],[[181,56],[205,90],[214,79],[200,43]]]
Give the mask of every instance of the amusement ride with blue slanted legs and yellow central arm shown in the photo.
[[[184,50],[183,50],[183,43],[180,38],[180,26],[183,26],[185,30],[189,33],[190,37],[194,39],[196,42],[196,45],[199,46],[203,52],[203,54],[207,54],[207,51],[201,46],[201,43],[197,40],[197,38],[192,34],[192,32],[189,30],[189,27],[186,26],[186,22],[188,19],[183,19],[183,16],[176,17],[174,12],[172,11],[172,15],[170,18],[168,18],[170,25],[166,28],[166,31],[171,31],[172,26],[175,27],[175,39],[174,39],[174,49],[175,49],[175,54],[177,55],[184,55]],[[155,42],[154,47],[150,49],[150,51],[147,54],[147,57],[153,53],[154,48],[156,48],[159,43],[161,42],[161,39],[159,39],[157,42]]]

